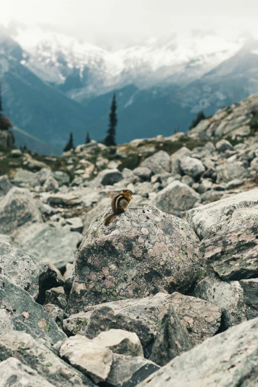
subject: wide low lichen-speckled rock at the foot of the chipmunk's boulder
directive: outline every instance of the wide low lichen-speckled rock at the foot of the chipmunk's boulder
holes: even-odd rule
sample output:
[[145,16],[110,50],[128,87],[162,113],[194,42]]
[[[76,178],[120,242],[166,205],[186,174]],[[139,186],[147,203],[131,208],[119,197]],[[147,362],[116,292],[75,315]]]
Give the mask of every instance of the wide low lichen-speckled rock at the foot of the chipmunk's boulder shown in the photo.
[[[145,350],[145,347],[152,342],[151,335],[159,332],[161,319],[170,304],[178,313],[182,324],[187,328],[194,345],[202,343],[218,331],[221,317],[218,306],[177,292],[172,295],[158,293],[154,297],[112,301],[87,306],[87,312],[80,312],[65,319],[64,328],[69,335],[77,333],[87,335],[93,329],[89,334],[89,338],[92,338],[95,337],[96,332],[99,332],[101,325],[105,327],[105,330],[123,327],[122,329],[135,332],[140,337]],[[98,315],[98,318],[94,316],[90,324],[92,328],[86,330],[92,312],[103,306],[112,308],[113,313],[110,313],[108,309],[106,314],[103,311]],[[128,317],[129,320],[124,319],[123,316]],[[146,329],[146,327],[149,327],[149,329]],[[146,331],[145,339],[141,336],[144,331]]]

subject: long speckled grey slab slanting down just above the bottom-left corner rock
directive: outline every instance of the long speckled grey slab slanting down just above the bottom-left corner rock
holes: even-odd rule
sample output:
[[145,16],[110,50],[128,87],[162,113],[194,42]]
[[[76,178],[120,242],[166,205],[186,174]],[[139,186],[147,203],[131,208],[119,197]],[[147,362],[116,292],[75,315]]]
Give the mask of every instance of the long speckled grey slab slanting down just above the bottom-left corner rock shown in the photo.
[[5,362],[11,357],[37,371],[40,377],[57,387],[94,386],[85,375],[56,356],[41,340],[35,340],[25,332],[15,331],[0,336],[0,361]]

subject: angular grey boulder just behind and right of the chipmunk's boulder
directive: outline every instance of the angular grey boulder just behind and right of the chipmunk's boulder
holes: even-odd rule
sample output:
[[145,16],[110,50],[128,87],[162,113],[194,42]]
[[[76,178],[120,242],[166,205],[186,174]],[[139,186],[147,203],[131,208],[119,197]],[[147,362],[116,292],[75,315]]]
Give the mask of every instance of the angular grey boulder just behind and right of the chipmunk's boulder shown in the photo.
[[175,180],[158,192],[153,204],[167,214],[180,216],[181,212],[193,208],[194,204],[199,202],[200,199],[200,195],[189,185]]

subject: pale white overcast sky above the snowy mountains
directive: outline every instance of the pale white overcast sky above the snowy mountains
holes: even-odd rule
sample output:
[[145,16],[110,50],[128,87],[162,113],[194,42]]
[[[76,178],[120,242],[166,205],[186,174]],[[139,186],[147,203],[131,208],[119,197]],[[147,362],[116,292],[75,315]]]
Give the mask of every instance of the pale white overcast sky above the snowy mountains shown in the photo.
[[256,0],[0,0],[0,24],[45,23],[91,43],[131,43],[192,28],[258,36]]

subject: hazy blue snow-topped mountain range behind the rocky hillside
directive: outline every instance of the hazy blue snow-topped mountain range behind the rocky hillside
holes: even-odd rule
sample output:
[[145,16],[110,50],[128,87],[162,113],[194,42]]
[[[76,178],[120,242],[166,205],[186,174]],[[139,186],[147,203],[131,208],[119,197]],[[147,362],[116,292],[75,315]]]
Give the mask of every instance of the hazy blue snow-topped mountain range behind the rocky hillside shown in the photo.
[[[12,21],[0,29],[4,109],[14,125],[59,151],[71,130],[76,143],[86,130],[96,140],[104,137],[114,91],[118,142],[171,135],[178,126],[185,131],[200,110],[213,114],[258,92],[255,28],[253,34],[244,26],[178,28],[152,38],[139,32],[138,40],[131,34],[128,41],[122,29],[120,42],[109,33],[105,42],[104,36],[78,39],[60,22],[39,22]],[[34,148],[41,152],[39,144]]]

